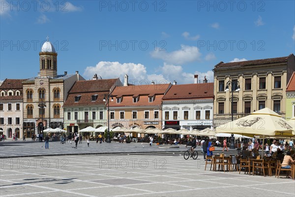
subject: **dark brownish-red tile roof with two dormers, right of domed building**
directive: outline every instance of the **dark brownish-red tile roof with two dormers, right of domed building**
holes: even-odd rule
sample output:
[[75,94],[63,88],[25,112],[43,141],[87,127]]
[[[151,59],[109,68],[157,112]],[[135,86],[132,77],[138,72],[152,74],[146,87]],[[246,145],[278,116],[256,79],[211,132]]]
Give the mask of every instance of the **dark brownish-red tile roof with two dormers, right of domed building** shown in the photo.
[[[81,106],[81,105],[104,105],[104,95],[109,94],[110,89],[116,86],[117,79],[98,79],[88,81],[76,81],[63,106]],[[81,95],[81,99],[75,102],[75,97]],[[92,101],[92,95],[97,95],[97,99]]]

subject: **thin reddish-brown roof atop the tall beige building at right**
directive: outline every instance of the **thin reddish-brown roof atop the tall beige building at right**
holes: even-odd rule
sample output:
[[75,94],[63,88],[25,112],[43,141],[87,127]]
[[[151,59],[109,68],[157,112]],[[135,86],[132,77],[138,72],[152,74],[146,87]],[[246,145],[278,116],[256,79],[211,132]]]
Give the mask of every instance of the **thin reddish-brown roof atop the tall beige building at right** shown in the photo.
[[266,64],[284,63],[284,62],[287,62],[288,58],[292,55],[293,54],[291,54],[287,57],[268,58],[268,59],[261,59],[261,60],[249,60],[249,61],[243,61],[243,62],[230,62],[230,63],[220,62],[216,66],[214,66],[214,69],[227,68],[227,67],[258,66],[258,65],[266,65]]

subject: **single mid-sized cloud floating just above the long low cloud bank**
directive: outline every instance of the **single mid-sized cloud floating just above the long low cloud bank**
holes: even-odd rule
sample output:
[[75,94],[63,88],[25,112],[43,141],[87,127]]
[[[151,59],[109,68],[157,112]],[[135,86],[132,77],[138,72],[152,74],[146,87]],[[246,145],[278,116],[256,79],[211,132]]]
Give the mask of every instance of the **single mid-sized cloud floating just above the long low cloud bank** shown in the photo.
[[171,64],[185,64],[188,62],[199,61],[201,53],[198,47],[181,45],[181,49],[177,51],[172,51],[168,53],[166,51],[161,51],[159,48],[155,51],[150,52],[152,58],[162,59],[167,63]]

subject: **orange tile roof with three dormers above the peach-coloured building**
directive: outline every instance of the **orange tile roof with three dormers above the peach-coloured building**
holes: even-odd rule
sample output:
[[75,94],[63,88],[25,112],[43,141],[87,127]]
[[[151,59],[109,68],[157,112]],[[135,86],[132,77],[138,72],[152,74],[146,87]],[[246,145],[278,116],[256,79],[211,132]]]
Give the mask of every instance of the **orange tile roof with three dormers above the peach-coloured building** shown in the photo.
[[[122,86],[116,87],[112,92],[114,101],[110,102],[110,106],[154,106],[161,105],[162,98],[167,89],[172,84],[148,84],[141,86]],[[133,102],[134,97],[138,97],[137,102]],[[153,97],[153,101],[149,102],[148,97]],[[118,98],[121,98],[121,102],[117,103]]]

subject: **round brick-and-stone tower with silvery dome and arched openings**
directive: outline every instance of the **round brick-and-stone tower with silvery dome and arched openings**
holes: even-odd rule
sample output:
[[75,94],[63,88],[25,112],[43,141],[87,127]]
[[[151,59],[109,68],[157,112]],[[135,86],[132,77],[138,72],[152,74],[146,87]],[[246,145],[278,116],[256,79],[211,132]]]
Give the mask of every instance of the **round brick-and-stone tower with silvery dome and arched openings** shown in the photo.
[[40,77],[56,77],[58,75],[58,54],[55,51],[53,44],[48,41],[44,42],[40,56]]

